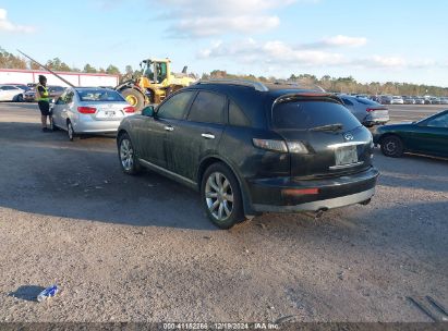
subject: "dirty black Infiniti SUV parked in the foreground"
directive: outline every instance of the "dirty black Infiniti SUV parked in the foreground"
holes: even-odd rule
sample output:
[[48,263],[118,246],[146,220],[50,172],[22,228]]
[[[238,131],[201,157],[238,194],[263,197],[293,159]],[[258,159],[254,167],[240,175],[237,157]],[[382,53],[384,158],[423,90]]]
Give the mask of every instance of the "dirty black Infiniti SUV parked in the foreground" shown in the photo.
[[148,168],[201,192],[221,229],[264,211],[367,204],[378,171],[372,135],[334,95],[245,81],[208,81],[125,118],[125,173]]

